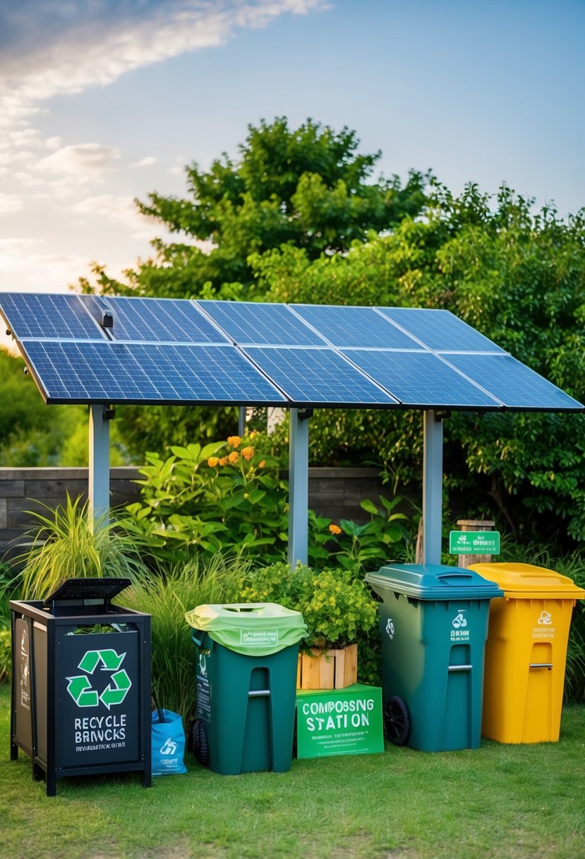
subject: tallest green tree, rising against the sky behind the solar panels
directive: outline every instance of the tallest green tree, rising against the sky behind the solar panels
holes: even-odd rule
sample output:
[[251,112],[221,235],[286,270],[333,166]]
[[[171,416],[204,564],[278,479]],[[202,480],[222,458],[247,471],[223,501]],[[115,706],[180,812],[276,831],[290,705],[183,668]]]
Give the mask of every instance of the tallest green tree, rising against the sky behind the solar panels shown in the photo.
[[154,257],[127,283],[95,265],[95,284],[110,294],[188,298],[259,295],[248,257],[283,245],[303,248],[308,259],[344,252],[368,230],[385,230],[424,204],[427,177],[411,172],[372,180],[381,155],[358,153],[355,131],[333,131],[307,119],[290,129],[285,117],[248,126],[238,159],[224,153],[208,171],[186,168],[187,198],[149,195],[139,210],[177,234],[177,242],[153,242]]

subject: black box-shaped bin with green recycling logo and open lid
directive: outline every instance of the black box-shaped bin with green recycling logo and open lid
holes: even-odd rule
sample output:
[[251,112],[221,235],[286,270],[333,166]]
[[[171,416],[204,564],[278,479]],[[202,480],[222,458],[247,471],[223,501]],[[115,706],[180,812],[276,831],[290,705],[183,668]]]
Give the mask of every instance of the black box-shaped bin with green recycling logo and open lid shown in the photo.
[[11,600],[10,758],[33,778],[139,772],[151,783],[150,615],[112,605],[130,579],[68,579]]

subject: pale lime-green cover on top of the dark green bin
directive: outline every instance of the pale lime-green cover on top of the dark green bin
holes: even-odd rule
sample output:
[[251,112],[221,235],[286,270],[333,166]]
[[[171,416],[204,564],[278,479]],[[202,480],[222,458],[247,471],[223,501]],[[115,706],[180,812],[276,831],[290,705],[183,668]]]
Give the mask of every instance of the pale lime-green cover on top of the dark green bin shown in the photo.
[[247,656],[278,653],[309,635],[300,612],[275,602],[196,606],[185,620],[218,644]]

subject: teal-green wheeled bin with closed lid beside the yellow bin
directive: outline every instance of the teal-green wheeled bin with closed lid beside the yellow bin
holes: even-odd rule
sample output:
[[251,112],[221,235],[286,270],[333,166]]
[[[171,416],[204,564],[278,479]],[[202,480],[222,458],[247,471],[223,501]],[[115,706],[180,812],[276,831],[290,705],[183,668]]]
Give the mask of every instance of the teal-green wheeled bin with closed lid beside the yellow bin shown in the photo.
[[383,713],[389,739],[423,752],[477,748],[490,600],[473,570],[393,564],[365,576],[382,597]]

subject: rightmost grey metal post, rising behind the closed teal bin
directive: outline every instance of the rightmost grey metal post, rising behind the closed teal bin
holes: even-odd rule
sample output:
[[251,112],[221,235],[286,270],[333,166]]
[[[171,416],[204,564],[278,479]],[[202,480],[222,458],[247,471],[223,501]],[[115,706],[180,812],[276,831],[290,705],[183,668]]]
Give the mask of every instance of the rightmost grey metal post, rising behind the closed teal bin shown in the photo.
[[425,411],[423,454],[423,564],[441,563],[443,528],[443,420]]

